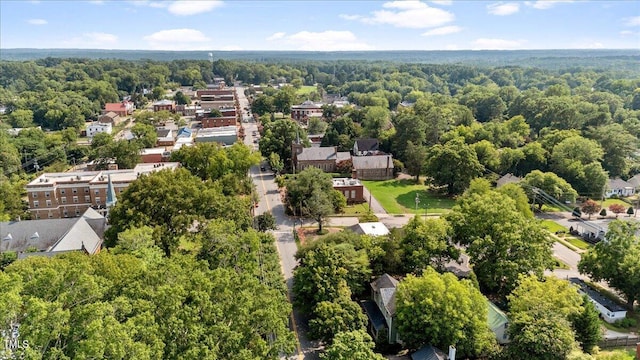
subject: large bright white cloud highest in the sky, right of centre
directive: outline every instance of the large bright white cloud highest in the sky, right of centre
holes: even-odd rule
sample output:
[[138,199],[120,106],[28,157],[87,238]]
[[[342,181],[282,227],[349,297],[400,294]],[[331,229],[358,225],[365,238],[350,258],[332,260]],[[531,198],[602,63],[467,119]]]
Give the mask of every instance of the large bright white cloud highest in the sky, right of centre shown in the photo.
[[383,10],[369,16],[341,15],[343,19],[359,20],[366,24],[386,24],[401,28],[424,29],[452,22],[453,13],[430,7],[421,1],[391,1],[382,5]]

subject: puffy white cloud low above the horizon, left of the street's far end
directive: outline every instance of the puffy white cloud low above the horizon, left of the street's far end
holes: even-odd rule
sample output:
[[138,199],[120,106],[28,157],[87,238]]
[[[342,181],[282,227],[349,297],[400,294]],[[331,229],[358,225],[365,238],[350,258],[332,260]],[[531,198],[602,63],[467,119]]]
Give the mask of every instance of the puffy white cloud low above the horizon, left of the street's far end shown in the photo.
[[195,29],[171,29],[155,32],[143,37],[153,50],[206,50],[212,48],[210,41]]

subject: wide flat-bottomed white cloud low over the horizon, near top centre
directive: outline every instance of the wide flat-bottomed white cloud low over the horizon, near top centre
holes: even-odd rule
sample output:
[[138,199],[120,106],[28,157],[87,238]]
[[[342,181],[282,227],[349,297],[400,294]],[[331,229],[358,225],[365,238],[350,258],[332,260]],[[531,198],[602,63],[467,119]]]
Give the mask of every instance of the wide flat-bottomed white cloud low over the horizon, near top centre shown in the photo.
[[358,40],[351,31],[300,31],[288,36],[283,33],[283,36],[276,40],[288,45],[287,48],[301,51],[374,50],[372,46]]

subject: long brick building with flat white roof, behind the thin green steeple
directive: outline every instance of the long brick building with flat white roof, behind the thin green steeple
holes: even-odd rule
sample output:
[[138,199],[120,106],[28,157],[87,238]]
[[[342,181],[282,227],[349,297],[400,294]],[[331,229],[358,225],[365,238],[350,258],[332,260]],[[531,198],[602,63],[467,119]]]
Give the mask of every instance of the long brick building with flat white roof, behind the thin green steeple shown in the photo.
[[78,217],[89,207],[106,213],[108,177],[119,195],[141,174],[174,169],[179,163],[138,164],[133,169],[44,173],[27,184],[34,219]]

